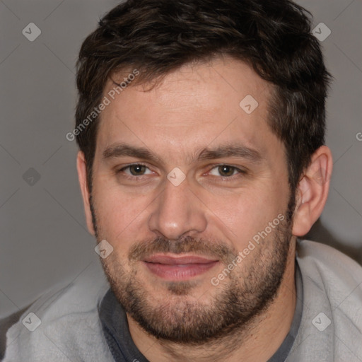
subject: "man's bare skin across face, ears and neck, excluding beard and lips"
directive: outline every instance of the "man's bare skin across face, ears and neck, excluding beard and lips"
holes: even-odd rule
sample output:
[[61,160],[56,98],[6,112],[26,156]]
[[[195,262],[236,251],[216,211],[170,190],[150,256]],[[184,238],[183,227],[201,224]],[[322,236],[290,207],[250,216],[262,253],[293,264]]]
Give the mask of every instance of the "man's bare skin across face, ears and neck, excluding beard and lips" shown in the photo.
[[[105,95],[112,86],[109,80]],[[225,269],[227,264],[221,261],[190,278],[184,288],[176,282],[174,290],[142,262],[129,260],[132,247],[156,238],[192,237],[209,242],[211,250],[219,243],[237,253],[279,214],[286,215],[291,195],[285,148],[265,121],[269,92],[270,85],[247,64],[228,58],[214,59],[209,63],[182,66],[151,90],[142,84],[128,86],[102,112],[93,164],[92,197],[97,238],[106,239],[114,248],[103,261],[105,273],[109,280],[117,281],[119,289],[122,289],[119,284],[128,278],[141,288],[151,308],[157,308],[160,303],[168,305],[165,319],[171,324],[177,322],[178,313],[182,313],[187,303],[208,308],[233,282],[238,281],[238,287],[242,288],[245,278],[250,277],[248,271],[259,270],[262,276],[262,265],[268,265],[274,256],[276,231],[272,230],[264,243],[238,263],[219,286],[212,286],[210,281]],[[239,106],[245,95],[252,95],[259,103],[250,115]],[[105,149],[119,143],[147,148],[158,158],[152,161],[135,156],[103,159]],[[256,150],[261,156],[259,162],[236,156],[197,160],[204,148],[228,143]],[[146,175],[133,176],[129,169],[115,173],[132,163],[146,165]],[[232,165],[246,173],[235,170],[232,177],[222,177],[218,165]],[[77,168],[88,229],[95,235],[86,164],[81,152]],[[174,168],[185,174],[185,180],[178,186],[167,178]],[[331,173],[332,156],[329,148],[322,146],[300,177],[293,224],[289,227],[286,269],[276,295],[262,313],[233,334],[187,346],[156,339],[127,313],[132,339],[141,353],[149,361],[161,362],[233,362],[240,361],[241,357],[243,361],[267,361],[284,341],[293,320],[296,237],[305,235],[320,216]],[[211,255],[216,254],[211,252]],[[252,269],[257,263],[260,269]],[[177,285],[178,294],[175,293]]]

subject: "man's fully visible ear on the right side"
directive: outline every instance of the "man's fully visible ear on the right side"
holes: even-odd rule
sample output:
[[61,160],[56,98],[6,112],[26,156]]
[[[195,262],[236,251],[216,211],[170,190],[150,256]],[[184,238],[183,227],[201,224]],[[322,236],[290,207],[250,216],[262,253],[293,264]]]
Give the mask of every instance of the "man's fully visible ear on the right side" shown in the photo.
[[329,192],[332,168],[332,153],[327,146],[321,146],[313,153],[310,165],[296,190],[293,235],[303,236],[308,233],[322,214]]

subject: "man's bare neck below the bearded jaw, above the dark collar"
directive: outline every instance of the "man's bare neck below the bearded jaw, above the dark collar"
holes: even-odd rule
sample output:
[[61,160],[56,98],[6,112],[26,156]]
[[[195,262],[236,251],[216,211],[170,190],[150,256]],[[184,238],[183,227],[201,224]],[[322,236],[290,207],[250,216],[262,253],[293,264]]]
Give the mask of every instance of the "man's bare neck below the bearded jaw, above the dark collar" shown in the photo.
[[232,335],[199,346],[156,339],[127,315],[134,344],[148,361],[267,361],[279,349],[291,328],[296,309],[295,241],[291,242],[281,286],[267,310]]

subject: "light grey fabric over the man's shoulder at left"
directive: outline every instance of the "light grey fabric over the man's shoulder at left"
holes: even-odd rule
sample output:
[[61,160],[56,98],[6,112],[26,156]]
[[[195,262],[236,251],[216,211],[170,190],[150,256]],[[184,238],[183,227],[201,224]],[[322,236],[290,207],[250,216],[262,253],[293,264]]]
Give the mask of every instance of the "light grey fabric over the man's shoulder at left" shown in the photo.
[[8,329],[4,361],[112,361],[98,317],[108,289],[94,261],[71,283],[47,291]]

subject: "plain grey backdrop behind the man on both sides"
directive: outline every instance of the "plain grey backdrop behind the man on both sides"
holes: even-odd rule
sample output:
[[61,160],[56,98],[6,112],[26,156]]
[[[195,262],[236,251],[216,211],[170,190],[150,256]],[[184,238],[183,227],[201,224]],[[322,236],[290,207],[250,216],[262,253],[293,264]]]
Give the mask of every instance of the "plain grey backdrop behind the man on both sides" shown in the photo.
[[[298,2],[332,31],[322,45],[335,78],[327,106],[332,187],[309,237],[362,262],[362,2]],[[65,134],[74,124],[78,49],[116,4],[0,0],[0,317],[98,258],[83,216],[76,144]],[[42,32],[33,42],[22,33],[29,23]]]

